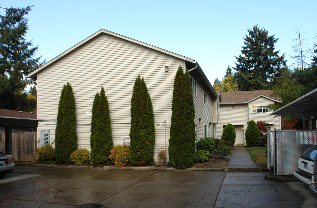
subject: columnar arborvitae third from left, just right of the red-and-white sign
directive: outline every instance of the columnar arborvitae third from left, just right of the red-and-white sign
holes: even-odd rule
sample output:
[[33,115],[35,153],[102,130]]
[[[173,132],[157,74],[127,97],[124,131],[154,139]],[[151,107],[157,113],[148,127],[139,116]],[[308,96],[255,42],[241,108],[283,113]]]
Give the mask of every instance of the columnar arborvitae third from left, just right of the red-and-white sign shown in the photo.
[[144,78],[136,78],[131,98],[130,161],[154,164],[155,126],[150,94]]

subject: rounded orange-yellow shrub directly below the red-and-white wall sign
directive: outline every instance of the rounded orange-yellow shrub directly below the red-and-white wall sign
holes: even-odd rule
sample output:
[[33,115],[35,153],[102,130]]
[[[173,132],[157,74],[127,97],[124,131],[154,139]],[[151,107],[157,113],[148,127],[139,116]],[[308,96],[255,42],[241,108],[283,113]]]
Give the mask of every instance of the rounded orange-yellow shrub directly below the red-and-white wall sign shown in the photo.
[[130,148],[129,145],[117,145],[112,147],[110,151],[109,159],[115,166],[121,167],[129,162]]

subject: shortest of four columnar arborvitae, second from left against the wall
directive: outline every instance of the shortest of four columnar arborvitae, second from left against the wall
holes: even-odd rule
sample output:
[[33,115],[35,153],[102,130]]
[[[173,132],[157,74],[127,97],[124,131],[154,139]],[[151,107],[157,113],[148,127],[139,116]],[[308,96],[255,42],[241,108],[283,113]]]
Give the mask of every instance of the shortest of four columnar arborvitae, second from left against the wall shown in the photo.
[[98,109],[93,109],[95,115],[93,113],[92,125],[94,125],[94,130],[90,140],[90,155],[94,167],[103,167],[109,164],[108,157],[113,146],[109,103],[103,87],[100,91],[100,98],[98,99],[98,95],[96,95],[95,99],[99,101],[94,101],[98,102]]

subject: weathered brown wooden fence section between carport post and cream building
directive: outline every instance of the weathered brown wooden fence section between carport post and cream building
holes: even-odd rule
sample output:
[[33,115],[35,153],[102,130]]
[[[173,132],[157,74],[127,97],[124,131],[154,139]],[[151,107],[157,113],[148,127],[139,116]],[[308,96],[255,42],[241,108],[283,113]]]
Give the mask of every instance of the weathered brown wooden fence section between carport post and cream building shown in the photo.
[[15,161],[36,161],[36,132],[12,132],[12,156]]

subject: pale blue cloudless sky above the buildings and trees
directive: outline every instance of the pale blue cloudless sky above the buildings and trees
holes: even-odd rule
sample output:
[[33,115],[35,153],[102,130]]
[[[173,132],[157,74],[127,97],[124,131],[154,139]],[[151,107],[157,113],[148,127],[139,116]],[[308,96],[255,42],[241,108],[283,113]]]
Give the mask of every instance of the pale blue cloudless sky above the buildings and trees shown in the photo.
[[[309,1],[18,1],[1,7],[34,5],[27,16],[27,40],[36,56],[50,59],[101,28],[195,59],[210,83],[235,66],[248,29],[258,24],[279,40],[275,50],[292,63],[297,27],[312,46],[317,34],[316,0]],[[4,14],[4,9],[0,10]]]

